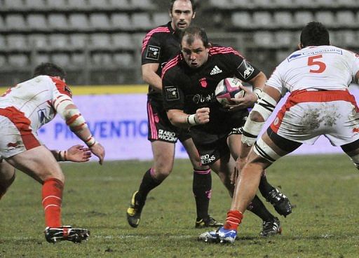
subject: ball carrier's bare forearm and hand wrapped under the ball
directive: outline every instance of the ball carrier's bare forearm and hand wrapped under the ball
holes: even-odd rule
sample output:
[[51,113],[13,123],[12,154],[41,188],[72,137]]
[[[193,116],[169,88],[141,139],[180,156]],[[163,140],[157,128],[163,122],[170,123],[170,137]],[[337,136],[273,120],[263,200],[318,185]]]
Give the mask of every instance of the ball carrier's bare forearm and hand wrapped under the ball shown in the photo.
[[266,83],[266,75],[263,72],[259,72],[257,76],[248,82],[252,84],[252,91],[248,88],[245,88],[244,86],[240,86],[245,91],[245,95],[238,99],[232,98],[231,101],[233,101],[235,104],[229,105],[229,108],[244,109],[246,107],[253,107],[259,98],[259,94],[262,93]]

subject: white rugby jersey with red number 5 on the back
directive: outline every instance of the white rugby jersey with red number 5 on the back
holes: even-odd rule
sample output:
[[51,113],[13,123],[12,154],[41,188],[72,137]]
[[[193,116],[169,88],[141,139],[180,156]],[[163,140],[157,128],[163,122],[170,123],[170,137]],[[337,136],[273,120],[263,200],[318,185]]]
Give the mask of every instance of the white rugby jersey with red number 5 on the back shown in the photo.
[[266,82],[285,91],[344,90],[359,71],[359,55],[335,46],[309,46],[290,54]]

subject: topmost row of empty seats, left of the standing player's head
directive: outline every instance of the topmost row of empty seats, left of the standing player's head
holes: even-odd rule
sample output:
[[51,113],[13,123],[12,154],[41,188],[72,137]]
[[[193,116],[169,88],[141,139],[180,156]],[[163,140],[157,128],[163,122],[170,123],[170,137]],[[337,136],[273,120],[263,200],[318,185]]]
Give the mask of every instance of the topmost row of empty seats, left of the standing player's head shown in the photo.
[[[1,1],[4,1],[1,4]],[[119,10],[142,9],[151,10],[151,0],[1,0],[5,11],[43,11],[43,10]]]

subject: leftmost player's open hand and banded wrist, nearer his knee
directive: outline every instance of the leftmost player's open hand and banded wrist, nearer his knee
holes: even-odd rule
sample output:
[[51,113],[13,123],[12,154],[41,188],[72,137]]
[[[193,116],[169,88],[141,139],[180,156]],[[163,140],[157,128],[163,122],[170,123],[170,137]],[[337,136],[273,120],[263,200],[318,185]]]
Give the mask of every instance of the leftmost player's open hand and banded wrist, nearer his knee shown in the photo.
[[86,162],[90,160],[91,151],[81,144],[74,145],[66,151],[50,150],[56,161]]

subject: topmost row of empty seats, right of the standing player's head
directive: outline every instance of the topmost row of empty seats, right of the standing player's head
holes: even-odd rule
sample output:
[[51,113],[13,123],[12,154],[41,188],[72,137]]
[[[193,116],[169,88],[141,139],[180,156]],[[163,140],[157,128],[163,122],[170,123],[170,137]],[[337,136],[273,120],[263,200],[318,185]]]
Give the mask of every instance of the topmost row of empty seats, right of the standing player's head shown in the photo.
[[358,7],[357,0],[210,0],[215,8],[320,8]]

